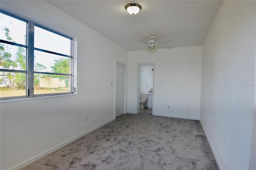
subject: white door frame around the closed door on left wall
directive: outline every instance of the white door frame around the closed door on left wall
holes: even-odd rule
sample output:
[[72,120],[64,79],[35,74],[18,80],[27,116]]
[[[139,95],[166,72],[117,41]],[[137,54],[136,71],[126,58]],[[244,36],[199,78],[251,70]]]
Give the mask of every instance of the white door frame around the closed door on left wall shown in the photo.
[[116,64],[124,65],[124,114],[127,113],[127,64],[115,61],[115,91],[114,91],[114,118],[116,119]]

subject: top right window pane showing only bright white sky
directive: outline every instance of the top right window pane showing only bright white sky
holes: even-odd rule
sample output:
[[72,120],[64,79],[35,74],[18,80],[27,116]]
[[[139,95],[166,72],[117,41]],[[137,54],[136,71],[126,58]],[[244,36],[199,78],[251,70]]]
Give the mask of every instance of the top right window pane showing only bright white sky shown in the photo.
[[35,26],[34,47],[70,55],[71,40]]

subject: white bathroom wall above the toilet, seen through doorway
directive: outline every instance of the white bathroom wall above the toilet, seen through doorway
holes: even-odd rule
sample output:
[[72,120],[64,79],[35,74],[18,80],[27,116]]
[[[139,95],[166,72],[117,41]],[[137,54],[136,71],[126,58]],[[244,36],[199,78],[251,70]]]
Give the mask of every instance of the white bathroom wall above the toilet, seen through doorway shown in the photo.
[[140,65],[140,93],[153,89],[153,65]]

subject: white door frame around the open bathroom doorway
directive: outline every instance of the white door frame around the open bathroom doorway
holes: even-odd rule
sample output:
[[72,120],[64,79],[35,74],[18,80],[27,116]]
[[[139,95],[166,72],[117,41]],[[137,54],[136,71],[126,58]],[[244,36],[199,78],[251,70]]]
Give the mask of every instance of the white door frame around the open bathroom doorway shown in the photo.
[[154,114],[154,89],[155,89],[155,63],[137,63],[137,101],[136,101],[136,114],[140,113],[140,65],[153,65],[153,96],[152,96],[152,115]]

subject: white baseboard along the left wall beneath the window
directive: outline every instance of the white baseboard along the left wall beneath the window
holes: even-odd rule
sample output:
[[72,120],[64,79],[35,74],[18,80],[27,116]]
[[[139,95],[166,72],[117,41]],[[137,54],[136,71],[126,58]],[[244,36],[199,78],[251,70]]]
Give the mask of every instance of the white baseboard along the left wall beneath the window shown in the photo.
[[42,158],[42,157],[44,157],[44,156],[46,156],[50,153],[62,148],[63,146],[66,146],[67,144],[70,144],[71,142],[74,142],[75,140],[81,138],[82,136],[84,136],[84,135],[86,135],[86,134],[88,134],[88,133],[90,133],[90,132],[92,132],[92,131],[94,131],[94,130],[112,122],[112,121],[114,121],[114,120],[115,120],[115,118],[112,118],[112,119],[110,119],[110,120],[108,120],[108,121],[106,121],[106,122],[104,122],[104,123],[102,123],[102,124],[100,124],[100,125],[98,125],[94,128],[86,130],[85,132],[83,132],[81,134],[78,134],[77,136],[74,136],[73,138],[71,138],[69,140],[66,140],[65,142],[63,142],[61,144],[58,144],[57,146],[54,146],[53,148],[50,148],[49,150],[46,150],[45,152],[42,152],[41,154],[38,154],[38,155],[30,158],[29,160],[26,160],[26,161],[24,161],[24,162],[22,162],[22,163],[20,163],[16,166],[13,166],[9,170],[17,170],[17,169],[23,168],[24,166],[27,166],[28,164],[31,164],[32,162],[34,162],[34,161],[36,161],[36,160],[38,160],[38,159],[40,159],[40,158]]

